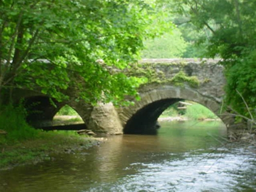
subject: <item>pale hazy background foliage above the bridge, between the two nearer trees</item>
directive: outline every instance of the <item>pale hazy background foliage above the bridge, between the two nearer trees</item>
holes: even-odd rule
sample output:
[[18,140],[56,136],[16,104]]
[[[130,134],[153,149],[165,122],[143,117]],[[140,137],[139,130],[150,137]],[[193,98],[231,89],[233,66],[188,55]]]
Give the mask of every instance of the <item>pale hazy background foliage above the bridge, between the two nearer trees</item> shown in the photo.
[[[167,12],[166,14],[168,15],[169,22],[174,23],[176,26],[173,34],[169,35],[170,37],[168,37],[167,40],[165,37],[161,38],[162,41],[171,42],[172,44],[171,50],[174,51],[174,55],[171,54],[168,58],[205,57],[205,46],[208,44],[207,37],[210,33],[208,30],[198,29],[191,23],[191,18],[190,15],[187,14],[188,8],[185,7],[185,3],[183,1],[175,0],[158,0],[157,2],[158,6],[162,7],[162,9],[165,9]],[[205,40],[204,43],[202,42],[202,38]],[[163,46],[165,46],[165,48],[162,48],[162,50],[168,49],[166,43],[163,43]],[[179,55],[177,55],[177,50],[175,50],[175,48],[179,50]]]

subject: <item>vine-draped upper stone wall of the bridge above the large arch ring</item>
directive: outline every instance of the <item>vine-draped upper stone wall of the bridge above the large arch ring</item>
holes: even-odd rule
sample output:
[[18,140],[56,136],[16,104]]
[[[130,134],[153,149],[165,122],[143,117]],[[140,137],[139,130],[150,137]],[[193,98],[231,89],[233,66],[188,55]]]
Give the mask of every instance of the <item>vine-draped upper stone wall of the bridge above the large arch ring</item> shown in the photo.
[[218,62],[213,59],[143,59],[140,66],[131,69],[130,73],[148,78],[148,83],[141,86],[140,92],[154,89],[154,85],[158,84],[188,85],[206,97],[221,101],[226,79]]

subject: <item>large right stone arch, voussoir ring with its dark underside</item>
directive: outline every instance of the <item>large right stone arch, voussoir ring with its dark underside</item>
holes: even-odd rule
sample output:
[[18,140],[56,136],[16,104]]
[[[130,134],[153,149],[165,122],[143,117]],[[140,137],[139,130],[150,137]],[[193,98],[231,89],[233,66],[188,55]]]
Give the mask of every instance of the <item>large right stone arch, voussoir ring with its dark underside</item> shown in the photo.
[[154,133],[157,118],[169,105],[182,99],[194,101],[209,108],[227,127],[233,122],[232,116],[221,112],[221,103],[215,98],[204,96],[186,85],[184,87],[159,85],[152,90],[141,92],[140,96],[141,100],[135,101],[133,106],[119,109],[124,133]]

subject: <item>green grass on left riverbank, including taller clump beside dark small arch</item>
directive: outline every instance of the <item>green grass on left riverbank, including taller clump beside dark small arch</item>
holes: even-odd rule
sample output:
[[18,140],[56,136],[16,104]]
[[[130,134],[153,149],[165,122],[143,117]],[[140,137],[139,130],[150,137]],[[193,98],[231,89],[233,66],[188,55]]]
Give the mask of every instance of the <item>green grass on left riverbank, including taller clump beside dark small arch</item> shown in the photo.
[[26,123],[22,106],[1,107],[0,129],[7,132],[7,135],[0,135],[0,169],[41,162],[50,159],[52,152],[81,150],[98,142],[74,131],[34,129]]

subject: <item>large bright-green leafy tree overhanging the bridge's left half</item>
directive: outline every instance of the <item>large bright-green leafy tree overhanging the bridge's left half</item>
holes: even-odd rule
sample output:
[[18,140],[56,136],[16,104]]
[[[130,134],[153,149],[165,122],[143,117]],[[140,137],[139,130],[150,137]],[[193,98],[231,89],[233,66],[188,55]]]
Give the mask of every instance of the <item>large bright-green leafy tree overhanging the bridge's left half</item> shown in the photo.
[[0,93],[39,87],[61,100],[76,86],[77,98],[92,103],[137,94],[143,79],[118,69],[161,29],[154,4],[143,0],[1,0],[0,15]]

